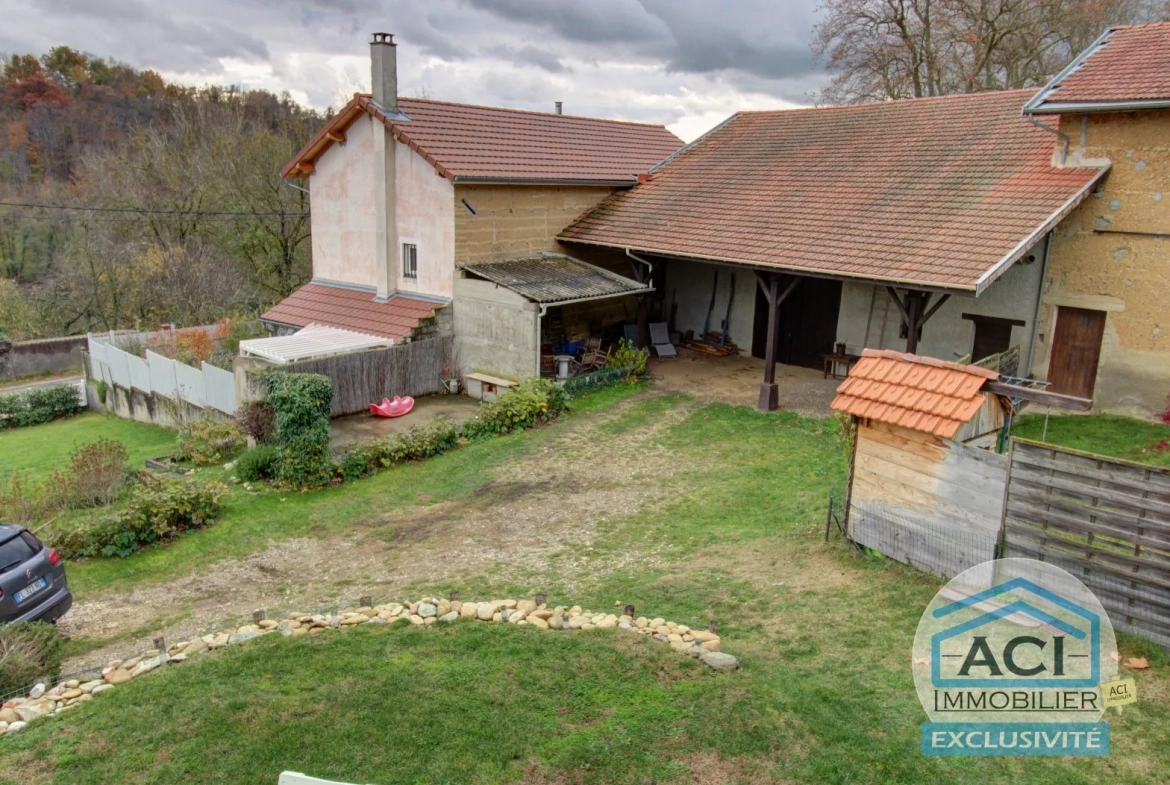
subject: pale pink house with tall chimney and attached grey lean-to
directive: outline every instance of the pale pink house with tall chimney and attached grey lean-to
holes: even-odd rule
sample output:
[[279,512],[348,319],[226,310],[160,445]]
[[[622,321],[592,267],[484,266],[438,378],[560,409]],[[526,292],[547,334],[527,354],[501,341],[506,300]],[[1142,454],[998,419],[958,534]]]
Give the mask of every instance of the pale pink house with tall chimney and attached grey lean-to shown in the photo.
[[[661,125],[559,106],[399,98],[393,36],[374,34],[370,49],[372,94],[356,95],[282,171],[310,184],[314,277],[262,319],[277,332],[323,324],[398,342],[453,330],[464,372],[512,378],[539,372],[542,343],[594,323],[620,333],[647,284],[591,263],[628,271],[620,254],[566,257],[556,235],[682,142]],[[517,257],[526,288],[484,267]]]

